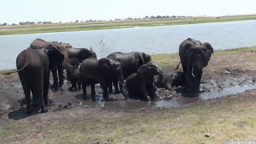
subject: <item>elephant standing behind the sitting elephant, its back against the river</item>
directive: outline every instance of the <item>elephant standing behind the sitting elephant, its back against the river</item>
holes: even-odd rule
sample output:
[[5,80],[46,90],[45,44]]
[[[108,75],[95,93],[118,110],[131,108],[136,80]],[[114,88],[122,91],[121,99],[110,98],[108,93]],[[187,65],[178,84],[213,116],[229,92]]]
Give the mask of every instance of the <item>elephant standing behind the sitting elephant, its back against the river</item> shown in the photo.
[[[130,74],[137,73],[140,66],[144,65],[147,62],[151,61],[151,57],[145,53],[131,52],[123,54],[121,52],[116,52],[109,54],[106,58],[113,59],[117,62],[120,62],[122,65],[122,74],[126,79]],[[114,83],[115,93],[119,93],[118,90],[118,81],[112,79],[109,85],[109,90],[112,92],[112,82]]]

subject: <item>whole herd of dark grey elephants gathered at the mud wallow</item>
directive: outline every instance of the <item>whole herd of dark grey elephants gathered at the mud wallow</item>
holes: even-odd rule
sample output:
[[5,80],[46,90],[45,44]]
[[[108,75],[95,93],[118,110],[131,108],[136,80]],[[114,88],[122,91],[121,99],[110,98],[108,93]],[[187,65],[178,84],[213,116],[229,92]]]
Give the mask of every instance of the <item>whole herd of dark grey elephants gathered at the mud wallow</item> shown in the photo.
[[[163,74],[158,65],[151,61],[150,55],[143,52],[115,52],[97,59],[92,49],[74,48],[69,43],[46,42],[37,38],[29,48],[18,54],[17,71],[11,73],[18,72],[27,113],[32,112],[32,106],[38,105],[38,102],[44,113],[48,111],[50,71],[54,79],[53,90],[62,89],[66,69],[67,80],[71,83],[69,90],[80,90],[82,86],[86,98],[86,86],[90,86],[92,101],[96,101],[94,86],[97,83],[103,90],[104,101],[109,101],[109,92],[113,92],[112,84],[114,92],[121,92],[125,98],[152,101],[156,98],[156,86],[170,90],[171,86],[180,85],[185,86],[186,92],[197,93],[202,69],[208,65],[213,52],[210,43],[187,38],[179,46],[183,71]],[[33,94],[32,102],[30,92]]]

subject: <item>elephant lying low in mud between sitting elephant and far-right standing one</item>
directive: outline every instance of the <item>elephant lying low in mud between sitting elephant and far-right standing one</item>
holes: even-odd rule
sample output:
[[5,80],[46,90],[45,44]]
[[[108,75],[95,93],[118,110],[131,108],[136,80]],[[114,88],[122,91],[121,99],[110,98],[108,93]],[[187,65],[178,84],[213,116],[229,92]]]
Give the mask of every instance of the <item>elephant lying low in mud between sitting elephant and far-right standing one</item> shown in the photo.
[[155,86],[171,90],[172,86],[182,86],[185,84],[185,78],[182,71],[173,71],[169,74],[162,74],[156,77]]

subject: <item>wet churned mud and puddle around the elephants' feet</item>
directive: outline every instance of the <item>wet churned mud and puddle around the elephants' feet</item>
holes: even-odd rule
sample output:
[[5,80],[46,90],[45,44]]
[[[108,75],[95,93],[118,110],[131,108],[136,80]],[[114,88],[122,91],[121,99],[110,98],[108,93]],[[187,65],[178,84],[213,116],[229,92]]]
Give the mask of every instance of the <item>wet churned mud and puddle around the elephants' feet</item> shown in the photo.
[[[231,70],[229,70],[231,71]],[[242,74],[241,72],[226,72],[222,70],[219,74],[225,77],[222,79],[206,78],[202,79],[200,93],[198,97],[189,98],[187,94],[182,93],[182,87],[176,87],[173,90],[165,90],[158,88],[156,94],[157,101],[142,102],[134,99],[125,99],[122,94],[110,94],[110,102],[103,102],[102,89],[96,85],[96,100],[92,102],[90,99],[90,87],[87,87],[86,99],[83,98],[82,90],[70,92],[70,82],[65,81],[63,90],[49,90],[49,111],[58,111],[66,109],[105,109],[105,110],[155,110],[170,107],[187,106],[194,102],[202,102],[210,98],[220,98],[230,94],[242,93],[246,90],[256,89],[256,78],[254,72]],[[22,85],[19,81],[7,82],[0,84],[1,102],[0,116],[6,115],[10,119],[26,118],[34,114],[40,113],[40,108],[34,107],[34,113],[26,114],[26,106],[22,105],[24,98]],[[32,94],[31,94],[32,95]]]

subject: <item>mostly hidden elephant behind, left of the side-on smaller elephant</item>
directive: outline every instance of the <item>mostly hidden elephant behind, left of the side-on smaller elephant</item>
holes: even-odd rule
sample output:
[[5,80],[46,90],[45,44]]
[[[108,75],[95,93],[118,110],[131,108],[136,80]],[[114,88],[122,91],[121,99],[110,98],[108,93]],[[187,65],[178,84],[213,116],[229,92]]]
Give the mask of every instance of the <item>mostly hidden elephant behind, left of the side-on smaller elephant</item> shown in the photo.
[[[72,66],[78,66],[80,62],[85,60],[86,58],[97,58],[96,53],[92,49],[86,49],[86,48],[68,48],[66,49],[70,64]],[[81,83],[79,82],[79,79],[74,76],[74,74],[70,74],[69,72],[66,72],[67,79],[71,82],[70,91],[77,90],[77,84],[78,84],[78,90],[81,89]]]

